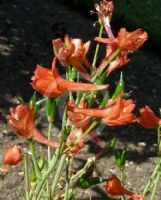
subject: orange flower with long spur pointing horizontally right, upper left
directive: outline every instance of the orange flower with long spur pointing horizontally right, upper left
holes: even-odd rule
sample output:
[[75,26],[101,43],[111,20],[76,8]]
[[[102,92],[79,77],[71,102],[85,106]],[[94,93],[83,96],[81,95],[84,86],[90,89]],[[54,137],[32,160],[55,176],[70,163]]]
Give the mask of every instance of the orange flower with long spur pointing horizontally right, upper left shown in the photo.
[[32,87],[48,97],[54,98],[67,91],[88,91],[107,89],[108,85],[96,86],[86,83],[77,83],[63,79],[55,66],[56,58],[52,63],[52,70],[37,66],[35,75],[32,77]]

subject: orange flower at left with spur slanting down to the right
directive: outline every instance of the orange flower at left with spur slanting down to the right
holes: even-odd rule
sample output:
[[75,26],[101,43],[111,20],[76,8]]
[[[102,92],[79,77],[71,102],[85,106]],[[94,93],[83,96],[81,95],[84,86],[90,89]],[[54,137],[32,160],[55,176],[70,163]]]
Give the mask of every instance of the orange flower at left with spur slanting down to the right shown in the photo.
[[38,129],[35,128],[33,108],[28,105],[18,105],[15,109],[10,108],[10,114],[6,117],[8,124],[16,135],[23,139],[34,139],[51,147],[58,147],[57,142],[47,140]]

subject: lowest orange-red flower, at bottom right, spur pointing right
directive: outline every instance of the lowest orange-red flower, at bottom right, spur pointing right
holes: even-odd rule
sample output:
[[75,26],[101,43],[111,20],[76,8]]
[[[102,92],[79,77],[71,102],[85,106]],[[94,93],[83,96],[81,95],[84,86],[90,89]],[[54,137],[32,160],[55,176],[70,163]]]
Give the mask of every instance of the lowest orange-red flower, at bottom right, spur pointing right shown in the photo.
[[143,194],[136,194],[124,188],[121,185],[120,180],[115,175],[112,175],[110,178],[108,178],[106,184],[103,187],[105,191],[111,196],[127,195],[132,199],[140,199],[144,197]]

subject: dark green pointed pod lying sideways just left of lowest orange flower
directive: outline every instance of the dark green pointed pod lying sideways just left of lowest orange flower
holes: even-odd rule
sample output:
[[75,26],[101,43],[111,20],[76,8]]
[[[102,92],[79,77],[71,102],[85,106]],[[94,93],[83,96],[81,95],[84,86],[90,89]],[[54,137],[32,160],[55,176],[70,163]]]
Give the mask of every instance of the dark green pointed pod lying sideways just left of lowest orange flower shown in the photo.
[[77,180],[76,187],[79,187],[81,189],[87,189],[93,185],[100,184],[105,181],[107,181],[107,179],[101,177],[92,177],[92,178],[80,177]]

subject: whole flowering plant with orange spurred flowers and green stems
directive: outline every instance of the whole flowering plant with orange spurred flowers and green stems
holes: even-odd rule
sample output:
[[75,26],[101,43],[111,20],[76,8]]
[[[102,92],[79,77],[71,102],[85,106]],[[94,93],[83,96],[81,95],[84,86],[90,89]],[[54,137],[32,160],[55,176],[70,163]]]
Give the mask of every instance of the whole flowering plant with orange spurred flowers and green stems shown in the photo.
[[[10,166],[23,160],[25,195],[22,199],[74,200],[77,190],[88,189],[96,184],[102,185],[109,196],[108,199],[146,199],[149,193],[150,199],[155,199],[161,176],[161,119],[155,116],[149,106],[140,109],[140,116],[133,113],[135,103],[128,99],[125,93],[122,74],[111,96],[108,93],[110,86],[105,84],[111,73],[123,68],[130,61],[128,54],[142,46],[148,36],[141,29],[128,32],[125,28],[121,28],[115,36],[110,26],[113,2],[102,0],[95,5],[95,9],[100,32],[95,38],[97,44],[93,62],[90,63],[87,58],[90,41],[83,43],[82,39],[73,39],[68,35],[63,39],[54,39],[51,68],[37,65],[31,78],[33,89],[43,95],[42,99],[37,100],[34,94],[29,103],[20,101],[16,108],[10,108],[6,117],[12,131],[26,141],[27,148],[21,150],[16,144],[6,148],[0,170],[1,173],[7,173],[11,169]],[[106,33],[104,38],[103,31]],[[98,63],[101,43],[106,46],[106,52]],[[59,65],[65,67],[66,78],[60,75]],[[102,99],[100,94],[103,94]],[[61,120],[62,128],[57,141],[53,141],[52,127],[56,123],[56,113],[62,97],[63,117],[58,119]],[[43,105],[48,121],[48,137],[43,136],[35,125],[39,107]],[[144,191],[141,191],[142,194],[130,191],[124,186],[127,150],[115,150],[117,138],[108,141],[94,157],[86,158],[81,169],[72,169],[79,150],[84,148],[89,138],[96,143],[101,142],[94,132],[100,124],[114,127],[134,123],[157,129],[158,132],[157,164]],[[34,142],[47,146],[46,158],[37,154]],[[112,153],[115,154],[120,177],[115,174],[110,177],[94,176],[95,164]]]

